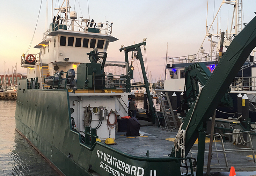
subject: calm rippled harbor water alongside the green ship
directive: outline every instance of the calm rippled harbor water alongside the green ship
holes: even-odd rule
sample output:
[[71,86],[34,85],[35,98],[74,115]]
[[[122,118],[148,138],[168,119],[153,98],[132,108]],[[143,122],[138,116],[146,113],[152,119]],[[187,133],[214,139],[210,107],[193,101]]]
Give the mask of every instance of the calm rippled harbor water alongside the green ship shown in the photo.
[[[139,108],[143,101],[136,101]],[[52,167],[17,131],[15,131],[16,101],[0,101],[0,176],[57,176]],[[228,176],[214,173],[212,176]],[[256,175],[236,172],[237,176]]]

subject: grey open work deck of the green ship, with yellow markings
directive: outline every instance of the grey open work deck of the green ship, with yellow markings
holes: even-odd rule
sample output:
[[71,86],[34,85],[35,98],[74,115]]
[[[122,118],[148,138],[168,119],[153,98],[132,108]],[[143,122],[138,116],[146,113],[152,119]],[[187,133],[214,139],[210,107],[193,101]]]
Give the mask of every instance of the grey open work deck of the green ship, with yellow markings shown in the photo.
[[[149,157],[168,157],[171,153],[171,148],[174,145],[174,138],[177,130],[166,131],[159,127],[152,125],[152,123],[139,120],[142,124],[140,127],[140,137],[127,137],[126,132],[117,132],[115,142],[116,145],[111,147],[116,148],[122,152],[130,155],[147,157],[146,153],[149,151]],[[205,156],[204,156],[204,170],[207,168],[207,159],[209,151],[209,138],[206,137]],[[220,140],[213,142],[213,151],[222,150]],[[227,149],[241,149],[248,148],[244,145],[233,145],[232,142],[226,140],[224,142],[225,150]],[[197,158],[198,141],[193,145],[188,156]],[[256,170],[256,163],[253,161],[251,151],[247,152],[226,152],[228,168],[234,166],[236,171],[254,171]],[[212,152],[211,171],[228,171],[226,169],[224,153],[222,151]]]

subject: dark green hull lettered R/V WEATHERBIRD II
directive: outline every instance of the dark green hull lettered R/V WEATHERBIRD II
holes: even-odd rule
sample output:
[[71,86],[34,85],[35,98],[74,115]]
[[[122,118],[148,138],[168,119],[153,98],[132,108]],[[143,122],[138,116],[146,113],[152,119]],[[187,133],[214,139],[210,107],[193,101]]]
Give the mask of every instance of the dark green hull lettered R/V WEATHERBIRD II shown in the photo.
[[17,131],[66,176],[181,174],[175,157],[137,157],[101,142],[83,144],[72,130],[68,90],[27,89],[27,80],[19,80],[15,120]]

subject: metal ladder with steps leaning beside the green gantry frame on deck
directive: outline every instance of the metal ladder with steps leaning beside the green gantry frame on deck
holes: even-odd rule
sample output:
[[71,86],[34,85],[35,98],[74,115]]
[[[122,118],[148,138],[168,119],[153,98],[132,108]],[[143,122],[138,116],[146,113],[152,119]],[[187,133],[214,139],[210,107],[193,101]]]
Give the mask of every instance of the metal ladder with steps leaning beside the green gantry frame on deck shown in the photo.
[[[171,101],[168,93],[161,95],[161,93],[159,92],[159,94],[157,94],[156,96],[158,97],[160,108],[163,112],[164,122],[166,125],[165,127],[163,127],[163,129],[169,130],[168,127],[171,127],[172,128],[171,130],[174,130],[174,129],[178,130],[179,128],[176,122],[176,118],[173,112],[173,107],[171,106]],[[161,100],[162,97],[164,97],[164,100]]]

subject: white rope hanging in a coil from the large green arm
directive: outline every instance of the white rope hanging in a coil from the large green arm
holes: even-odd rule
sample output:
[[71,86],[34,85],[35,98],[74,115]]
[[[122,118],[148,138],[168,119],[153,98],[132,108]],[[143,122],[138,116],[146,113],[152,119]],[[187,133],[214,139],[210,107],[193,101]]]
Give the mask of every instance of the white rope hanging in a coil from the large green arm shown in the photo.
[[[192,114],[190,116],[190,119],[189,119],[189,123],[192,119],[192,116],[193,116],[193,113],[195,111],[195,108],[196,108],[196,105],[197,105],[197,102],[198,102],[198,99],[200,97],[200,94],[201,94],[201,91],[203,89],[204,86],[202,86],[200,88],[200,91],[198,93],[198,96],[197,96],[197,99],[196,99],[196,102],[195,102],[195,106],[193,108],[193,111],[192,111]],[[189,123],[188,125],[186,126],[186,130],[183,130],[181,129],[182,128],[182,125],[183,123],[181,124],[179,130],[178,130],[178,133],[174,139],[174,148],[175,148],[175,157],[176,157],[176,151],[178,152],[181,148],[181,157],[184,158],[185,157],[185,142],[186,142],[186,131],[188,130],[188,127],[189,127]],[[185,163],[185,160],[183,160],[183,163]]]

